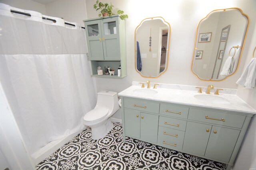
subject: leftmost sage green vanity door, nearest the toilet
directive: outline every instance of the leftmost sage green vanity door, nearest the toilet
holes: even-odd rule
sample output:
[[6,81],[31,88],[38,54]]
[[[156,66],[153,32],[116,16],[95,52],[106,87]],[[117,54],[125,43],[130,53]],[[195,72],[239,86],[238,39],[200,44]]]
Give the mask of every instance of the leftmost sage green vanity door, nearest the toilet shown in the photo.
[[140,111],[124,109],[125,134],[140,138]]

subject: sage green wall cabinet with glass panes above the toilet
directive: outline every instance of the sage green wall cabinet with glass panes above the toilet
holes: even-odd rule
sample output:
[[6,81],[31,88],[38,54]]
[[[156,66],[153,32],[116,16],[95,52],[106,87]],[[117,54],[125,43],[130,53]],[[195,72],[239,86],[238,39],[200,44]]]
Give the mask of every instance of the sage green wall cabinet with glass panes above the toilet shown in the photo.
[[[126,32],[125,21],[119,16],[84,20],[88,59],[91,61],[92,76],[103,78],[123,78],[126,73]],[[97,66],[110,66],[115,75],[98,75]],[[121,66],[122,76],[118,77]]]

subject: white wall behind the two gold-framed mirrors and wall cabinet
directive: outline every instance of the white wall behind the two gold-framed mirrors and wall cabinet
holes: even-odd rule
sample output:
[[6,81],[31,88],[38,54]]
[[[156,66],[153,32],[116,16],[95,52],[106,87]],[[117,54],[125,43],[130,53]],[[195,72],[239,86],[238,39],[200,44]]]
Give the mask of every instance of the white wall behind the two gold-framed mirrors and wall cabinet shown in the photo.
[[[102,2],[110,2],[103,0]],[[126,51],[128,76],[122,80],[97,78],[97,90],[114,90],[120,92],[131,85],[132,80],[145,82],[161,82],[170,84],[186,84],[195,86],[208,86],[213,84],[221,88],[237,88],[236,80],[242,74],[242,66],[246,60],[246,51],[250,47],[252,39],[250,24],[244,52],[240,67],[234,76],[220,82],[201,81],[191,72],[191,61],[194,48],[194,39],[198,22],[212,10],[238,7],[250,18],[251,22],[256,20],[255,1],[232,0],[212,1],[202,3],[200,0],[180,1],[136,1],[136,0],[111,0],[117,9],[122,9],[129,18],[126,20]],[[98,13],[93,9],[93,0],[86,0],[86,11],[88,18],[96,18]],[[149,10],[152,9],[152,10]],[[171,25],[170,57],[168,70],[160,78],[142,78],[134,69],[134,30],[140,21],[148,17],[162,16]],[[118,86],[116,86],[118,84]]]

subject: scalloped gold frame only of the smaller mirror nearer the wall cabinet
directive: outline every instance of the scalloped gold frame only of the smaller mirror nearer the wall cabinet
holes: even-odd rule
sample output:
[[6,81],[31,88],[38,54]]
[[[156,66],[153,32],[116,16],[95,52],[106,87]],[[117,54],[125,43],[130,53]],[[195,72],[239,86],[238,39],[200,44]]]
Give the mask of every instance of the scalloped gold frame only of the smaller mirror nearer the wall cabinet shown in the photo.
[[[158,76],[156,77],[152,77],[152,76],[143,76],[138,70],[137,70],[137,67],[136,67],[136,31],[138,29],[138,27],[141,26],[141,24],[143,23],[143,21],[146,21],[146,20],[153,20],[153,19],[160,19],[160,20],[163,20],[165,23],[168,24],[169,28],[170,28],[170,31],[169,31],[169,36],[168,36],[168,48],[166,49],[166,51],[168,51],[167,53],[167,60],[166,60],[166,68],[164,69],[164,71],[162,71]],[[144,20],[142,20],[140,22],[140,24],[136,27],[135,31],[134,31],[134,68],[136,70],[136,72],[138,72],[140,74],[140,76],[144,77],[144,78],[158,78],[160,77],[162,74],[164,74],[168,68],[168,61],[169,61],[169,51],[170,51],[170,39],[171,39],[171,25],[170,23],[166,22],[166,20],[164,20],[164,18],[162,17],[150,17],[150,18],[145,18]]]

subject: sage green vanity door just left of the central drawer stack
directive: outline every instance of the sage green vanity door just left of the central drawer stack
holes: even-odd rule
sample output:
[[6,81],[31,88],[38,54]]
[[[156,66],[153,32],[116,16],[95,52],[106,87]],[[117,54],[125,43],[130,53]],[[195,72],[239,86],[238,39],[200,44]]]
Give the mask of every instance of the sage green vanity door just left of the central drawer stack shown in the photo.
[[157,143],[158,115],[140,113],[140,139]]

